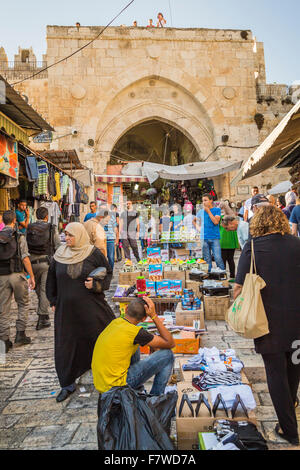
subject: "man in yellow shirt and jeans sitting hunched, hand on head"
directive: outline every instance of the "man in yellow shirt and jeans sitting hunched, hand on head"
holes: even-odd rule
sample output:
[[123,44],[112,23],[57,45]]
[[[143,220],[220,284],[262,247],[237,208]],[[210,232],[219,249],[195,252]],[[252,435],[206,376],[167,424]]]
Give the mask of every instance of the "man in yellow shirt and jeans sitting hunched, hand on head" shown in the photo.
[[[137,326],[148,316],[159,335]],[[159,350],[140,361],[139,345]],[[152,300],[147,297],[133,300],[125,317],[113,320],[96,341],[92,359],[95,388],[100,394],[126,385],[140,389],[155,376],[150,395],[162,395],[173,370],[171,349],[174,346],[173,337],[157,317]]]

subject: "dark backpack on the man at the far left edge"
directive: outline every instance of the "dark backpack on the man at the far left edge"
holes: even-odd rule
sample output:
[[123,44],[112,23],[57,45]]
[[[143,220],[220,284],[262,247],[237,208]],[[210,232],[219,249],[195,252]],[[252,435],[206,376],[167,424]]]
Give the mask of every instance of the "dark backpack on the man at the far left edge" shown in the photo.
[[20,236],[16,231],[0,232],[0,275],[23,271],[20,254]]

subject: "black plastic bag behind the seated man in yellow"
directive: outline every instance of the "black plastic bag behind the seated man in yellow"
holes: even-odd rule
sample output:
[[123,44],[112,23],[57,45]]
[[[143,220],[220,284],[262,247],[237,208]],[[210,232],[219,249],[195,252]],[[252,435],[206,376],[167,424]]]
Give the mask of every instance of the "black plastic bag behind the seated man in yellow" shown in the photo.
[[[169,414],[174,412],[177,400],[170,397],[174,404],[170,406],[170,402],[162,397],[154,398],[156,401],[145,399],[129,386],[114,387],[104,393],[98,404],[98,449],[174,450],[164,425],[168,424]],[[165,407],[170,410],[166,412]],[[164,424],[158,419],[158,413],[163,415]]]

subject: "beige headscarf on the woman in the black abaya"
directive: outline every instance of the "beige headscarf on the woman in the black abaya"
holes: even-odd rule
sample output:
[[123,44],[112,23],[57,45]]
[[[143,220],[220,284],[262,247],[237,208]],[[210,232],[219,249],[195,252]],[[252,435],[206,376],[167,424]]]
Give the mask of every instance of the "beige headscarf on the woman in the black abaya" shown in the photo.
[[91,254],[94,248],[93,245],[90,244],[88,233],[79,222],[68,224],[65,230],[75,237],[75,245],[60,246],[54,255],[54,259],[62,264],[80,263]]

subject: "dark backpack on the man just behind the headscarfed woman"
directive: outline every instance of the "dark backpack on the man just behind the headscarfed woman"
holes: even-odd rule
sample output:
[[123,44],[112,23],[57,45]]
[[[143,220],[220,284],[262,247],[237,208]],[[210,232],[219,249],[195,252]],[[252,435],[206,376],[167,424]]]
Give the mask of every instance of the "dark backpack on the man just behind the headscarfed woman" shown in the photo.
[[53,255],[53,226],[35,222],[27,228],[27,245],[32,255]]

